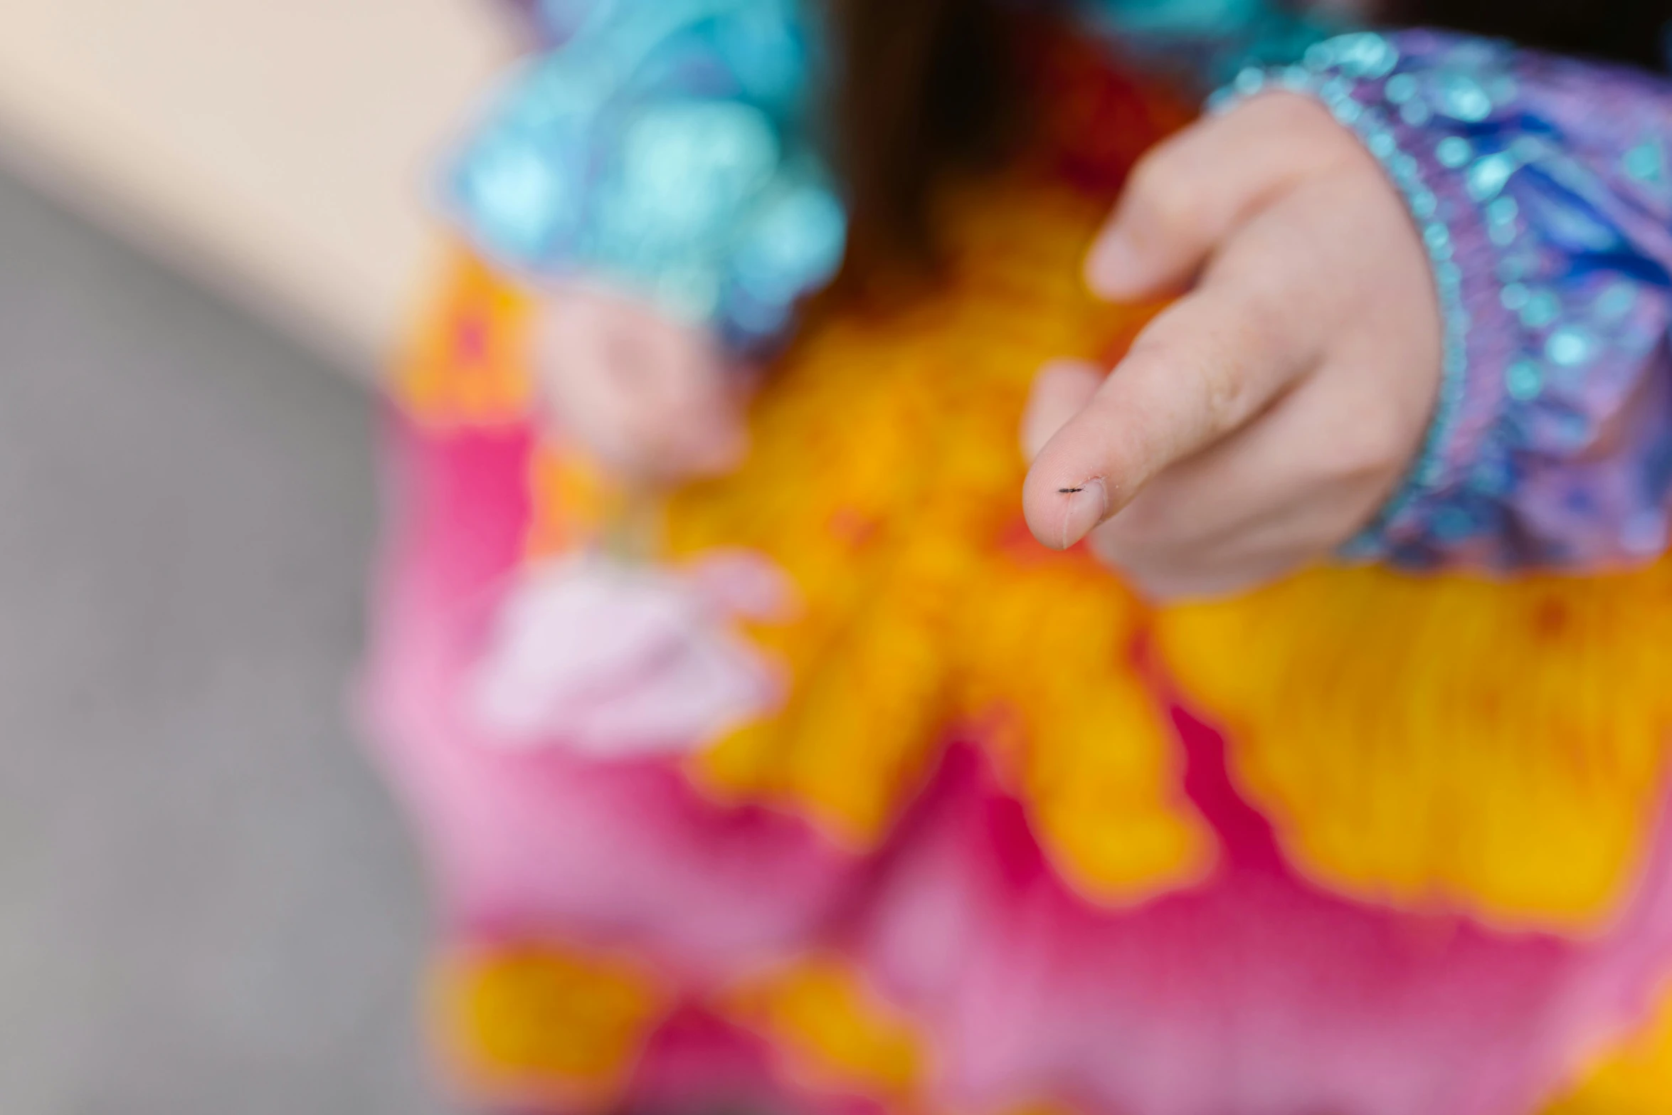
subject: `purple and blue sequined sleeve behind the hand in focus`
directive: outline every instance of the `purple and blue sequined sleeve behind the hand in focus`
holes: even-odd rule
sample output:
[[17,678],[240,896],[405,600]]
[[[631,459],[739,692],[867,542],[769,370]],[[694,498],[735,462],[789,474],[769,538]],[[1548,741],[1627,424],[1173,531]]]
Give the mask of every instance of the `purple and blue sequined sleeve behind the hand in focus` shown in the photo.
[[1672,82],[1406,32],[1247,70],[1324,100],[1409,204],[1446,316],[1428,445],[1349,555],[1600,568],[1672,496]]

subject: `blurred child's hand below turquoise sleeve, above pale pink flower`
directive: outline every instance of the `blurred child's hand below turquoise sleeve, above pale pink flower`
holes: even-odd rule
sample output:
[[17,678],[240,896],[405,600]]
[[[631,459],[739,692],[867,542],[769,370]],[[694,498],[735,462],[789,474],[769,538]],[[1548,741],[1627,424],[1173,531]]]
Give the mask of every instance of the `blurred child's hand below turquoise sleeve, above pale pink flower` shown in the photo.
[[570,286],[545,303],[538,366],[560,433],[625,478],[669,483],[742,460],[742,376],[697,326]]

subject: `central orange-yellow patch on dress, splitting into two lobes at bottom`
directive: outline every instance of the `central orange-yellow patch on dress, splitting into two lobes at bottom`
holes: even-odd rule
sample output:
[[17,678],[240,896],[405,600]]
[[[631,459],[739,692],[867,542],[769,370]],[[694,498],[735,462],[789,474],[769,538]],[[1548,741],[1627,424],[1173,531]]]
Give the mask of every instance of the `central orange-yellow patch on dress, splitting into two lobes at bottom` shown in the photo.
[[1020,450],[995,451],[1017,445],[1043,361],[1107,354],[1147,318],[1080,286],[1102,214],[1025,182],[955,206],[936,293],[814,326],[759,400],[742,470],[670,500],[670,553],[749,547],[804,597],[798,622],[754,632],[794,677],[788,705],[692,762],[701,786],[864,851],[965,727],[1005,752],[1047,851],[1099,898],[1211,866],[1127,654],[1139,607],[1085,555],[1025,540]]

